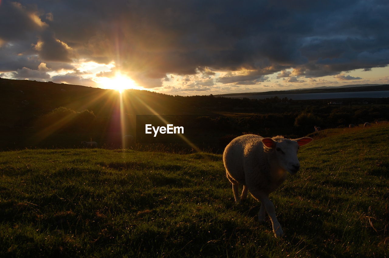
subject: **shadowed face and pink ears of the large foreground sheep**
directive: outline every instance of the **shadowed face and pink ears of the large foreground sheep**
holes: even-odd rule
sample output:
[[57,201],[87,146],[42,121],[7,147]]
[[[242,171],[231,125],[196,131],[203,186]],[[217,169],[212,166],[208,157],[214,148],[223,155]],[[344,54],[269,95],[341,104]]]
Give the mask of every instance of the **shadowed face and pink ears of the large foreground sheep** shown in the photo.
[[275,142],[271,138],[262,139],[263,144],[272,148],[278,161],[278,165],[294,175],[300,168],[300,161],[298,161],[297,153],[300,146],[307,144],[312,141],[312,138],[303,137],[300,139],[289,140],[282,139]]

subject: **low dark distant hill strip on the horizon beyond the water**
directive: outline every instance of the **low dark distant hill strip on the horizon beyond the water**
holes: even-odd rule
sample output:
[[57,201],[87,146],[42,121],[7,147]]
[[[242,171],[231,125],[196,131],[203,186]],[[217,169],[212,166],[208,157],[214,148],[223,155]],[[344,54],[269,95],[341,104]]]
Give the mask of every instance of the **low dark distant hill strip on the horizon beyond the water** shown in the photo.
[[300,94],[300,93],[329,93],[329,92],[355,92],[355,91],[384,91],[389,90],[389,84],[350,84],[343,86],[321,86],[316,88],[265,91],[265,92],[244,92],[214,95],[216,97],[229,96],[253,96],[253,95],[275,95],[275,94]]

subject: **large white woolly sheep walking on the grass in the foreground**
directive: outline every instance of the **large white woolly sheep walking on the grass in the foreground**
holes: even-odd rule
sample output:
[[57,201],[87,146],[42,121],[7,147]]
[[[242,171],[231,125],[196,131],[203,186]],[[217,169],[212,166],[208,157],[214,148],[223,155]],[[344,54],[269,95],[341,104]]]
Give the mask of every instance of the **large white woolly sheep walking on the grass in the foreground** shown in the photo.
[[[232,184],[235,202],[246,199],[250,191],[252,197],[261,202],[259,221],[265,220],[266,211],[272,221],[275,237],[280,237],[283,231],[269,194],[285,181],[287,172],[291,175],[297,173],[300,168],[298,149],[312,140],[310,137],[291,140],[282,136],[263,138],[247,134],[233,139],[224,149],[223,163]],[[243,191],[239,197],[240,184]]]

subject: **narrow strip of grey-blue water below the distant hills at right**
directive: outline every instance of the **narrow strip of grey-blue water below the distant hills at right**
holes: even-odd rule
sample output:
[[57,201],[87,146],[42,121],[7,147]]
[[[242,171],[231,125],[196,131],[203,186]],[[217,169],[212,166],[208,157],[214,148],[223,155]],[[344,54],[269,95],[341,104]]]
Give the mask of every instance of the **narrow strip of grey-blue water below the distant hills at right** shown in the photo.
[[274,95],[252,95],[252,96],[226,96],[228,98],[250,98],[265,99],[278,96],[279,98],[293,100],[322,100],[332,98],[389,98],[389,91],[355,91],[355,92],[329,92],[329,93],[299,93],[299,94],[274,94]]

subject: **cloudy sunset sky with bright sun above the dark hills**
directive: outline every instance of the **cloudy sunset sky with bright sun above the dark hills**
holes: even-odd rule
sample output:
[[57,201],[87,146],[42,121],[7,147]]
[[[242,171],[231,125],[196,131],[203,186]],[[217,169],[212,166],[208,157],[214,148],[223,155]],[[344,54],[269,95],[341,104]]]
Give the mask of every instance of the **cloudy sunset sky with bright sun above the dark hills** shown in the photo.
[[388,28],[387,0],[0,0],[0,77],[172,95],[389,84]]

